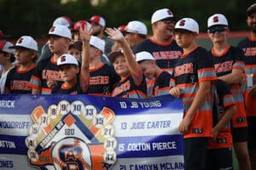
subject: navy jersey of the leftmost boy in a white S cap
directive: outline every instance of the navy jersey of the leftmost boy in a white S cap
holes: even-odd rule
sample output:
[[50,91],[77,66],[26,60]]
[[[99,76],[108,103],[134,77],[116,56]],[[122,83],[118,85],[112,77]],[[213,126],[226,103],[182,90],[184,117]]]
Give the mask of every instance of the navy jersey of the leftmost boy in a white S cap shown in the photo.
[[19,66],[12,68],[6,78],[5,94],[31,94],[30,79],[36,70],[36,65],[26,71],[19,71]]

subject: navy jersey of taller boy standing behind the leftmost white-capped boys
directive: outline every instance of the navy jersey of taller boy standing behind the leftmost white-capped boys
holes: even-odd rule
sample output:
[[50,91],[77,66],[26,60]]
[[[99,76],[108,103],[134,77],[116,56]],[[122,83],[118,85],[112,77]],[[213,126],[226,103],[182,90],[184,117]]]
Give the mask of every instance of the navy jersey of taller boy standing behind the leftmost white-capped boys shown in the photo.
[[51,89],[47,85],[48,80],[55,80],[57,85],[62,83],[61,74],[58,71],[57,63],[53,57],[49,59],[42,59],[38,62],[35,73],[31,78],[32,88],[41,89],[42,94],[50,94]]

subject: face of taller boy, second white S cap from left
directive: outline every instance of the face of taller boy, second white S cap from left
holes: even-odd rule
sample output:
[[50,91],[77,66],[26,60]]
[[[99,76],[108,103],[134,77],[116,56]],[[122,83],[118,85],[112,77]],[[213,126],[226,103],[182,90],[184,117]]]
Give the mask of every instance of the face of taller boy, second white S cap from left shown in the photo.
[[53,54],[63,54],[67,50],[69,42],[65,37],[50,35],[49,50]]

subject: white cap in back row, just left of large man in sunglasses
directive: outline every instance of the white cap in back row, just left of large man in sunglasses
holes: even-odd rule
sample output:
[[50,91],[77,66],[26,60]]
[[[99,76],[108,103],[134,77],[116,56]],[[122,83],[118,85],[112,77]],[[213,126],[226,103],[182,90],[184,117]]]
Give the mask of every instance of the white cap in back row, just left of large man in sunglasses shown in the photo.
[[143,35],[148,34],[147,26],[145,26],[143,22],[138,20],[130,21],[128,25],[125,27],[125,32],[131,32],[131,33],[137,33],[137,34],[143,34]]

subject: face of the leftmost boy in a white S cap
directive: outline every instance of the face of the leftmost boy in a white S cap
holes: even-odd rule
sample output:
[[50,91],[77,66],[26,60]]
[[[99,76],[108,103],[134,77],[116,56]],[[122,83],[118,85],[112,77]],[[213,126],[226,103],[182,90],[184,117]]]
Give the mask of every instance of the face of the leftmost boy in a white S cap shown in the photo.
[[33,62],[33,59],[35,58],[34,52],[32,52],[29,49],[23,49],[23,48],[17,48],[15,50],[15,58],[17,61],[17,64],[24,65],[29,62]]

